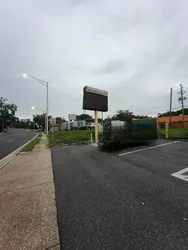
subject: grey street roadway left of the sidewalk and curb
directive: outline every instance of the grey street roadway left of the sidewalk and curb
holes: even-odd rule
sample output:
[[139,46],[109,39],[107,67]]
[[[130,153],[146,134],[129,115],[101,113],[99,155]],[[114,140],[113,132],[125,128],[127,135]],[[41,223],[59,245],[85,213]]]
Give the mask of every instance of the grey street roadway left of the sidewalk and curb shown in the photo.
[[0,135],[0,160],[17,148],[21,147],[27,141],[31,140],[36,132],[24,129],[11,129],[10,132]]

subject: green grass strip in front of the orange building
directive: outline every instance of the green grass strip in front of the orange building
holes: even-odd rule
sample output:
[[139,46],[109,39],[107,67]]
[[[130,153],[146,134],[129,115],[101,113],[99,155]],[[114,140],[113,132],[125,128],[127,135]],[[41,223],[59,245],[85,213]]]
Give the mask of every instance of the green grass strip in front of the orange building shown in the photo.
[[[165,129],[158,129],[159,138],[165,138]],[[188,138],[188,128],[169,128],[168,130],[169,139]]]

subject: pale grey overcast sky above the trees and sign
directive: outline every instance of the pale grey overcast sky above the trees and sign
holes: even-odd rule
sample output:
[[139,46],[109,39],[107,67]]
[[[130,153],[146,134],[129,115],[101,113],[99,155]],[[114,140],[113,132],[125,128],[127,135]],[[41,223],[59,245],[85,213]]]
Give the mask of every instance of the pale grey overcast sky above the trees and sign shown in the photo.
[[106,115],[166,111],[170,87],[188,87],[187,10],[186,0],[0,0],[0,96],[22,118],[45,109],[45,87],[25,72],[49,81],[54,116],[81,114],[85,85],[108,91]]

